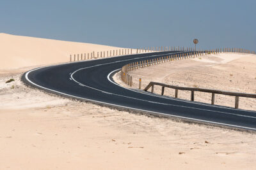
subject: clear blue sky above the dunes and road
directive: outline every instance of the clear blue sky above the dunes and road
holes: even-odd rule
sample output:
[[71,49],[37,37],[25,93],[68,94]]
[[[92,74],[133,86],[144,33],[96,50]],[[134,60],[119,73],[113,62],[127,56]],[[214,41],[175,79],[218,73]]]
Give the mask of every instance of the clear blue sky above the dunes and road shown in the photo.
[[0,32],[103,45],[256,50],[255,0],[1,0]]

